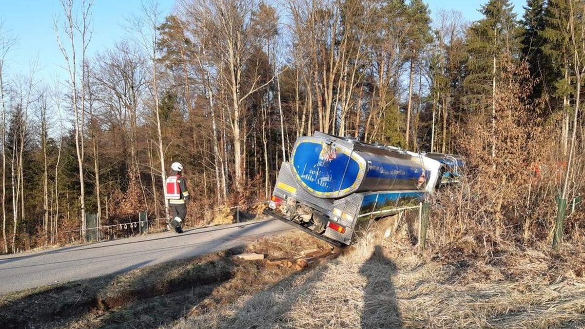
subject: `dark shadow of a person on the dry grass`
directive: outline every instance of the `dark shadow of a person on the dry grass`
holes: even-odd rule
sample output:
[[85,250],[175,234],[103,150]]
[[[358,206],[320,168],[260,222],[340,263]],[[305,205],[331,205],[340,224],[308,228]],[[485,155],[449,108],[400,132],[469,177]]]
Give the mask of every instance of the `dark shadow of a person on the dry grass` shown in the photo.
[[392,276],[396,265],[376,246],[370,258],[363,263],[360,274],[366,277],[362,328],[401,328],[402,316],[396,300]]

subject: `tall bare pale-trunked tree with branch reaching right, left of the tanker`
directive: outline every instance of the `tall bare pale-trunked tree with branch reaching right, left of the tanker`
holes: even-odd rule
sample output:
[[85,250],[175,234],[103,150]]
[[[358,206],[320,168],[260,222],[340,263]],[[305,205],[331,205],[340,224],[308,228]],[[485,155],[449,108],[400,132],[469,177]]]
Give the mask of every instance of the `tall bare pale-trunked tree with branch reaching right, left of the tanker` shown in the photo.
[[[191,29],[205,49],[212,52],[215,71],[225,92],[225,108],[229,111],[229,125],[233,137],[233,159],[236,190],[243,187],[245,166],[245,131],[242,119],[246,113],[246,100],[254,92],[269,84],[260,83],[257,63],[247,67],[253,50],[266,38],[250,23],[250,15],[256,8],[254,0],[195,0],[184,5],[184,11],[194,23]],[[251,77],[246,81],[243,74]],[[245,128],[245,127],[244,127]]]

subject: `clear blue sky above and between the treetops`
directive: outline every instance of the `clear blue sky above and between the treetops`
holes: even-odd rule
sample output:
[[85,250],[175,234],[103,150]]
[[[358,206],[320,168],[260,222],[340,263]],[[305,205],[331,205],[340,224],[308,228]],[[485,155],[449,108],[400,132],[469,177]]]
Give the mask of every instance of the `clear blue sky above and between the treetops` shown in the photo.
[[[170,12],[174,0],[159,0],[160,7]],[[428,0],[432,13],[439,9],[455,9],[468,20],[481,18],[477,9],[486,1]],[[512,0],[515,11],[521,16],[525,0]],[[90,43],[90,54],[102,50],[125,36],[122,28],[126,18],[140,12],[141,0],[94,0],[94,35]],[[39,76],[52,80],[66,78],[64,60],[56,44],[53,19],[62,16],[59,0],[0,0],[0,20],[5,28],[18,38],[9,63],[9,73],[27,74],[29,62],[39,58]],[[48,82],[48,81],[47,81]]]

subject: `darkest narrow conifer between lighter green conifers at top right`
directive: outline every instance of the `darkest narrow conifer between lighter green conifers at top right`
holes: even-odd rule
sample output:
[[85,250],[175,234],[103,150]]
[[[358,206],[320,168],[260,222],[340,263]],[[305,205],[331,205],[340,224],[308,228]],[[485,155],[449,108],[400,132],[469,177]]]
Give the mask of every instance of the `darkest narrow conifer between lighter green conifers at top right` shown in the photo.
[[545,1],[528,0],[524,7],[524,20],[522,21],[522,56],[528,61],[530,76],[535,81],[531,98],[536,100],[542,95],[545,70],[548,68],[543,56],[545,38],[542,36],[545,30]]

